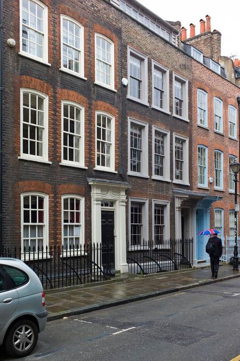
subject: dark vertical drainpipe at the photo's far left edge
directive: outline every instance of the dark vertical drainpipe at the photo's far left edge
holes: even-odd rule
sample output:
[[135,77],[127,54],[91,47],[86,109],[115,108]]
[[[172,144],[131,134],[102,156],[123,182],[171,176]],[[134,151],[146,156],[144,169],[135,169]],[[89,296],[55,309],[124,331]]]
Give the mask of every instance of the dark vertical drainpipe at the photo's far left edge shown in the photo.
[[3,72],[4,0],[0,0],[0,253],[3,247]]

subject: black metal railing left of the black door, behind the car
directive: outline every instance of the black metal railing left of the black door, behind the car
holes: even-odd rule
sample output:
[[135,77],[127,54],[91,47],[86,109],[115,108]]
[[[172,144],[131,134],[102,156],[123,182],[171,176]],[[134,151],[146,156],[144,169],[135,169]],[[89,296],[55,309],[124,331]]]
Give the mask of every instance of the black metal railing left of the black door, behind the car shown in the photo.
[[18,258],[39,277],[45,290],[110,279],[112,247],[101,243],[64,248],[3,247],[0,257]]

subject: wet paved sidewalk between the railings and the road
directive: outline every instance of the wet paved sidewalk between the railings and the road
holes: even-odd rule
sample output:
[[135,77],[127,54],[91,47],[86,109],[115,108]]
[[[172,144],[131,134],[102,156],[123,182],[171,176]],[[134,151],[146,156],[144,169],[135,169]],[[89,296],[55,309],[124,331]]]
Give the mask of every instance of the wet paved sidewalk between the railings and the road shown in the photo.
[[151,275],[119,274],[109,281],[48,290],[48,321],[240,277],[240,272],[221,265],[218,278],[211,275],[210,267],[198,266]]

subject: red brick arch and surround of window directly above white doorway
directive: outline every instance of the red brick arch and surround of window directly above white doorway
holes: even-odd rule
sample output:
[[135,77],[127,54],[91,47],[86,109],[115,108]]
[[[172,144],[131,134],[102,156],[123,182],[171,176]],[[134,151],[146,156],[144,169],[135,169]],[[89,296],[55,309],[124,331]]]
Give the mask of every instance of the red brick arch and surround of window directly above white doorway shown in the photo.
[[111,104],[106,103],[105,101],[95,101],[93,103],[92,111],[92,126],[91,126],[91,161],[93,166],[95,166],[95,127],[96,127],[96,112],[108,113],[110,116],[114,117],[115,121],[115,170],[118,169],[118,153],[119,153],[119,144],[118,144],[118,110]]

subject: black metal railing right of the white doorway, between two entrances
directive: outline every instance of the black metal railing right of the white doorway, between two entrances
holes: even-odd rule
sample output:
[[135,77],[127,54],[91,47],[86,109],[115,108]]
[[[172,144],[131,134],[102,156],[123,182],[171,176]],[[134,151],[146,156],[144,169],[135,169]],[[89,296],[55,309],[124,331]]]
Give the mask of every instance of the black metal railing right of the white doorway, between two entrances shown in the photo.
[[129,272],[148,274],[191,268],[193,239],[169,239],[155,244],[143,241],[127,245]]

